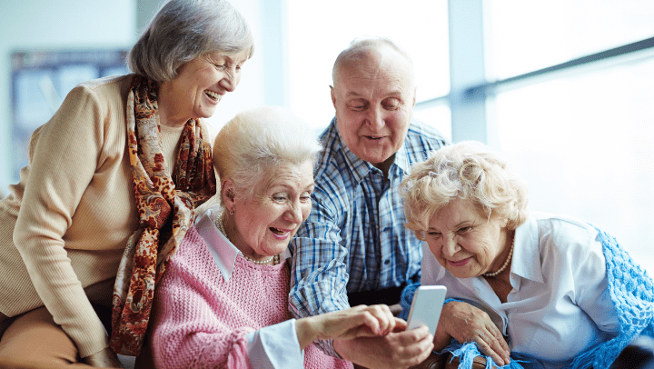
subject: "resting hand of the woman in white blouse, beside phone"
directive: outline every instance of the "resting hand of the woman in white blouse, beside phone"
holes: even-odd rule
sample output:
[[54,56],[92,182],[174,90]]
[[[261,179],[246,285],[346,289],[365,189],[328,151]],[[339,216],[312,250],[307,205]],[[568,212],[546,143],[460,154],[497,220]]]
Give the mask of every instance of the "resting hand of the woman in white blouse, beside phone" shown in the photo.
[[509,364],[509,344],[492,323],[489,314],[471,304],[458,301],[445,304],[436,331],[437,350],[445,347],[439,346],[442,345],[444,334],[449,334],[461,343],[474,341],[481,352],[489,355],[495,363]]

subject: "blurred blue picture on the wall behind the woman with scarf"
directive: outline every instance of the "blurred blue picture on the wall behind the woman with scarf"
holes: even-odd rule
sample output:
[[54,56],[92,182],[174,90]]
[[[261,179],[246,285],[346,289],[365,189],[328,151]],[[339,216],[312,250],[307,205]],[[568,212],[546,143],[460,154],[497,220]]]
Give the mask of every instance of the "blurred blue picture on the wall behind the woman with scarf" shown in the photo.
[[64,97],[81,82],[129,73],[128,51],[16,51],[12,65],[12,176],[17,182],[27,165],[29,140],[35,129],[54,115]]

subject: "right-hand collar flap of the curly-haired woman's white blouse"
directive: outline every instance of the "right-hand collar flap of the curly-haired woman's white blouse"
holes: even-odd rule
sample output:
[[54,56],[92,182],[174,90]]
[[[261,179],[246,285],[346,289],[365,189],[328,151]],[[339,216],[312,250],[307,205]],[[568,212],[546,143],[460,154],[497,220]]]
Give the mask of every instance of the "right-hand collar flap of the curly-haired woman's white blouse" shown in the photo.
[[540,263],[540,240],[536,218],[529,216],[515,231],[511,273],[522,278],[543,283]]

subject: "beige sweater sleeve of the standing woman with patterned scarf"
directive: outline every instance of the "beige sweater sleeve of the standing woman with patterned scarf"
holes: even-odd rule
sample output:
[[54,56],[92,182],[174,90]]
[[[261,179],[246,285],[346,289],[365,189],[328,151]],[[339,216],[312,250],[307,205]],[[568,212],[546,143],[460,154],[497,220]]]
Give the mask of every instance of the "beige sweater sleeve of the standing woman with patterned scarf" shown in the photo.
[[63,236],[101,156],[104,130],[111,124],[104,106],[92,90],[75,87],[53,118],[35,132],[14,232],[36,292],[82,357],[103,350],[108,340],[67,257]]

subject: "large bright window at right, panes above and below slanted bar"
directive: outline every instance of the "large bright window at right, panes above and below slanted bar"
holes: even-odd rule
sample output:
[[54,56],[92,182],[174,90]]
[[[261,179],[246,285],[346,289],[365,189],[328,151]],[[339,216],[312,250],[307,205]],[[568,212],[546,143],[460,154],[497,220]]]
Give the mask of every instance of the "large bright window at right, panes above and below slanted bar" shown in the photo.
[[[484,5],[490,80],[654,35],[654,3],[647,1],[502,0]],[[599,226],[650,273],[653,69],[650,46],[486,90],[488,144],[528,182],[530,209],[570,214]]]

